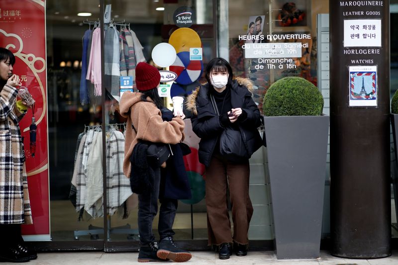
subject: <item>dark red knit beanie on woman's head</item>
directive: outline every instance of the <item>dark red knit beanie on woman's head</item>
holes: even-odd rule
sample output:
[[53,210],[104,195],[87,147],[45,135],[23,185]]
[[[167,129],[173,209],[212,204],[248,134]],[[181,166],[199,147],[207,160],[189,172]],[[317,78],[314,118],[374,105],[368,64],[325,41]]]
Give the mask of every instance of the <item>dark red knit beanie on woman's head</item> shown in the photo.
[[156,88],[160,83],[160,73],[147,63],[138,63],[135,68],[135,83],[139,91]]

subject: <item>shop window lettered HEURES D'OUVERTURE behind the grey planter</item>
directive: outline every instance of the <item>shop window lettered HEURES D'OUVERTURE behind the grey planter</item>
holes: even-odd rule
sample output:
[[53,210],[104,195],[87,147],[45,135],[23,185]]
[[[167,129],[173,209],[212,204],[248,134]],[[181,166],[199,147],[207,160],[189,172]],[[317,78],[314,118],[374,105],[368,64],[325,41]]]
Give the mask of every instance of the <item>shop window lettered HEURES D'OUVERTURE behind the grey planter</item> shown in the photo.
[[[220,23],[226,22],[229,26],[229,62],[235,76],[253,82],[253,99],[261,113],[267,89],[281,78],[302,77],[318,85],[316,18],[318,13],[328,13],[328,0],[322,3],[248,0],[227,4],[228,15],[221,16]],[[324,100],[328,107],[328,97]],[[250,196],[254,208],[249,229],[251,240],[273,239],[265,154],[256,152],[250,160]],[[328,220],[329,216],[325,216]],[[324,225],[326,230],[328,223]]]

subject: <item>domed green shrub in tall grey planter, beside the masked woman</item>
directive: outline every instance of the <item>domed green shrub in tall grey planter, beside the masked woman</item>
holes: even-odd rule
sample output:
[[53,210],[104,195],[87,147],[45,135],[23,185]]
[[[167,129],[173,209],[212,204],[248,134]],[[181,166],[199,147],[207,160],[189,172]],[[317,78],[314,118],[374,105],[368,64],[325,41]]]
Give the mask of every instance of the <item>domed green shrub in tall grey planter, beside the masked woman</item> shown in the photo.
[[311,82],[285,77],[268,88],[263,101],[266,116],[322,115],[323,96]]

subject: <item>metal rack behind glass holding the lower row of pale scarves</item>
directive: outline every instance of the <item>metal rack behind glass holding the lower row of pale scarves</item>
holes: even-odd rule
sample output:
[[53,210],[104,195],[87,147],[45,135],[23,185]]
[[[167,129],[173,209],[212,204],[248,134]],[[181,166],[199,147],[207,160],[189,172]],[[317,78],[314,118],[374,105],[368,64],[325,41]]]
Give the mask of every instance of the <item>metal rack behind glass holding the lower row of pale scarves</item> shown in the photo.
[[[126,123],[111,123],[111,124],[105,124],[105,126],[126,126]],[[95,129],[99,128],[101,129],[101,125],[85,125],[85,132],[87,129]],[[119,127],[120,129],[120,127]],[[106,208],[106,207],[105,207]],[[110,225],[110,215],[106,215],[106,222],[107,222],[107,238],[109,238],[109,235],[111,234],[127,234],[127,239],[128,240],[138,240],[138,229],[131,229],[130,224],[126,224],[123,226],[118,226],[118,227],[111,227]],[[100,234],[104,234],[104,229],[102,227],[98,226],[93,226],[89,225],[88,230],[75,230],[73,232],[74,239],[79,240],[80,236],[87,236],[90,235],[90,238],[92,240],[98,240],[100,237]]]

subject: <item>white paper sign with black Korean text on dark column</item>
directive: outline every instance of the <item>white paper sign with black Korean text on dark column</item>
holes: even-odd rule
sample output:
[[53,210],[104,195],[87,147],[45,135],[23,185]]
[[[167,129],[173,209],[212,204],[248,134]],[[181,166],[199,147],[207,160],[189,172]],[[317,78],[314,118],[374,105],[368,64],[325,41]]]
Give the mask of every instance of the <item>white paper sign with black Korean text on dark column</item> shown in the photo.
[[381,19],[345,19],[344,47],[381,47]]

